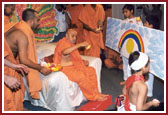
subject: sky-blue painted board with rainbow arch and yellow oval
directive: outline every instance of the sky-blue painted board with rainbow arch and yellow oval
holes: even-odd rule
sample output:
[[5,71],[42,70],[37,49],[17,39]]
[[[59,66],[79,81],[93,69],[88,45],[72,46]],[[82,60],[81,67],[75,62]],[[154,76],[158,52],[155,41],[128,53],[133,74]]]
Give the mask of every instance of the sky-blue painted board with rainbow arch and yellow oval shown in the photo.
[[145,52],[150,57],[150,72],[163,80],[165,42],[163,31],[108,18],[106,46],[126,58],[133,51]]

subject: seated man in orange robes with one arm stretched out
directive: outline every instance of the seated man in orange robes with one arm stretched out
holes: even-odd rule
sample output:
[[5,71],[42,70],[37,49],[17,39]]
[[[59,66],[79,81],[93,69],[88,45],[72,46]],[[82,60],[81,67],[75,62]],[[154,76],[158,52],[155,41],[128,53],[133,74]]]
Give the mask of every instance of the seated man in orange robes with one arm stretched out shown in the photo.
[[88,67],[86,61],[82,61],[78,48],[87,47],[87,42],[75,44],[77,32],[69,29],[66,36],[61,39],[55,48],[53,62],[64,65],[62,72],[68,79],[76,82],[84,96],[90,101],[104,101],[107,95],[101,94],[97,87],[96,72]]

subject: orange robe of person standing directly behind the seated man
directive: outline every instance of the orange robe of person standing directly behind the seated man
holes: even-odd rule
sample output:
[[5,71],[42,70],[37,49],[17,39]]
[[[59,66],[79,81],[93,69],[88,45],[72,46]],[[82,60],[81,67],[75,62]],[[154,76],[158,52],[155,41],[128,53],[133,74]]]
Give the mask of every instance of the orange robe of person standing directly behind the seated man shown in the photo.
[[[98,27],[98,20],[101,20],[103,22],[104,19],[104,9],[102,5],[98,4],[96,4],[96,10],[94,10],[90,4],[85,5],[79,15],[79,20],[81,20],[92,29],[96,29]],[[84,55],[100,57],[100,49],[104,49],[102,32],[95,33],[84,29],[83,34],[84,40],[91,45],[91,48],[89,50],[84,51]]]

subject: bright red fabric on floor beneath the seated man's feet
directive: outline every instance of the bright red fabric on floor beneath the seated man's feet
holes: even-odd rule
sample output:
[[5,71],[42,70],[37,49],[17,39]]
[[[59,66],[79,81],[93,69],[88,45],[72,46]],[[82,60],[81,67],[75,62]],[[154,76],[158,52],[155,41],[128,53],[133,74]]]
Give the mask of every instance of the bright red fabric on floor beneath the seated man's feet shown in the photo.
[[112,95],[107,97],[105,101],[90,101],[84,106],[80,107],[78,111],[103,111],[112,104]]

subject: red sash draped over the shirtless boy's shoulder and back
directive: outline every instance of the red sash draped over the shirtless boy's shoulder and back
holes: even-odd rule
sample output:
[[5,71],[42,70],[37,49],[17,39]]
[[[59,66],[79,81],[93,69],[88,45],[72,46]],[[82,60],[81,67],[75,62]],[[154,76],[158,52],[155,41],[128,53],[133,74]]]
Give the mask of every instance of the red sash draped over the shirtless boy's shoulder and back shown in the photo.
[[126,111],[131,111],[130,109],[130,101],[129,101],[129,96],[128,96],[128,91],[129,91],[129,88],[132,86],[132,84],[135,82],[135,81],[145,81],[144,77],[142,75],[133,75],[131,77],[129,77],[126,81],[126,100],[125,100],[125,105],[124,105],[124,108]]

